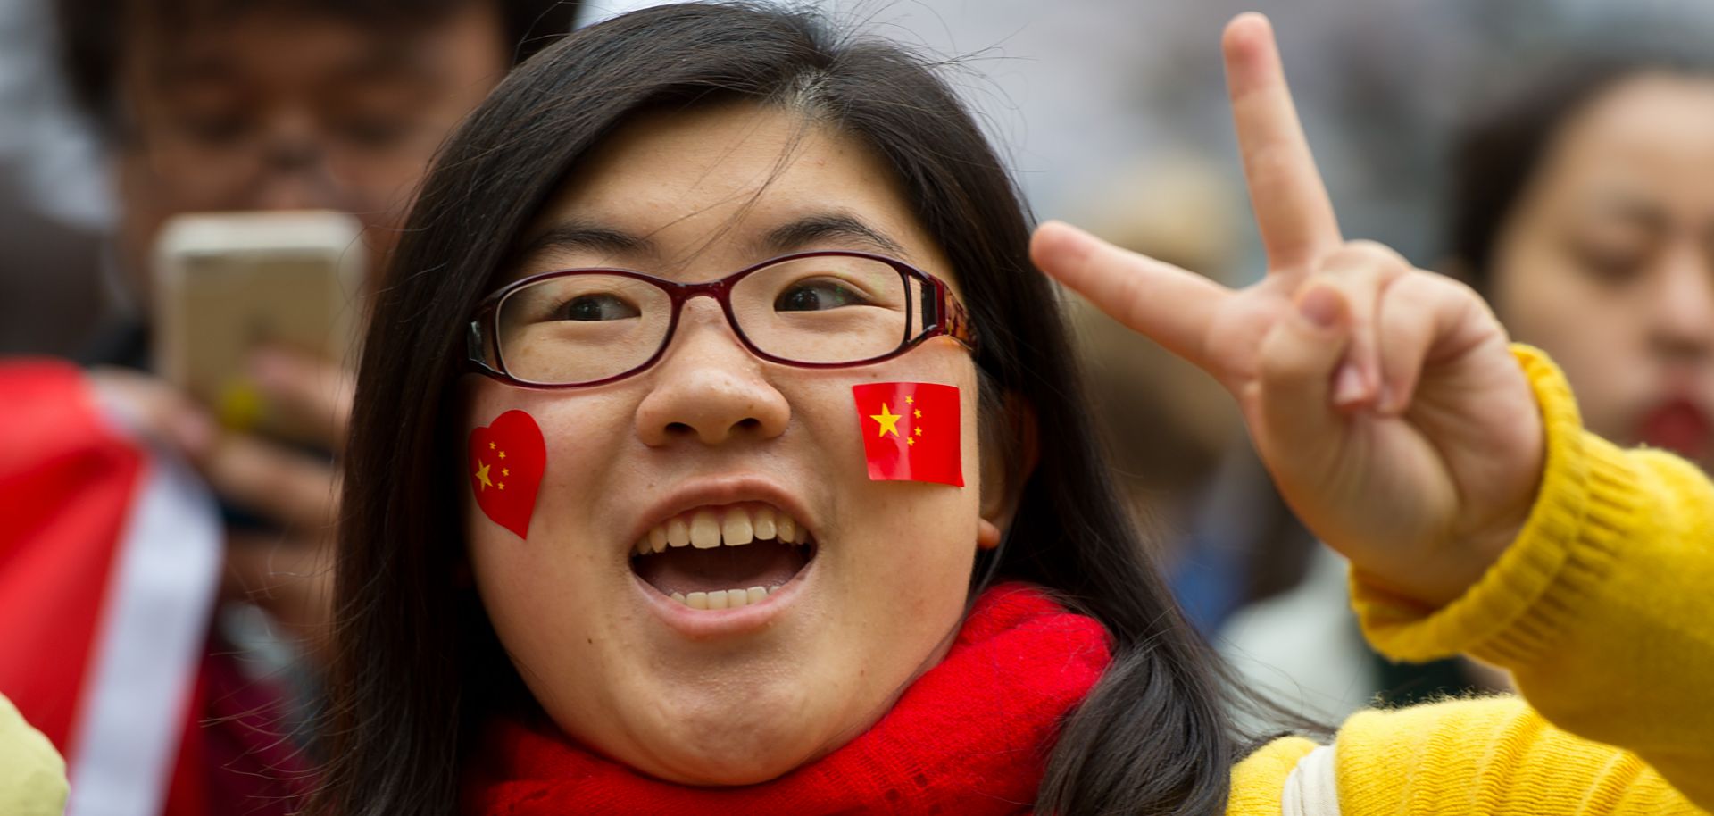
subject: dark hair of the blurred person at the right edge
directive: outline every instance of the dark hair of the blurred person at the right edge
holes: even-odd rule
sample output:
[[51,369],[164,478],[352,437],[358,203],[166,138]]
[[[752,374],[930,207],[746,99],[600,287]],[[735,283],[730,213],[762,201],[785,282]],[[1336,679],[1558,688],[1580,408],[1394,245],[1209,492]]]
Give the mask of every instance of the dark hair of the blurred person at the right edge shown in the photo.
[[[1666,34],[1663,34],[1666,36]],[[1445,204],[1452,273],[1491,293],[1495,245],[1512,207],[1534,180],[1560,130],[1601,94],[1647,74],[1714,77],[1714,58],[1657,36],[1621,34],[1604,50],[1577,48],[1501,82],[1500,91],[1452,135],[1452,178]],[[1673,41],[1683,36],[1673,38]]]

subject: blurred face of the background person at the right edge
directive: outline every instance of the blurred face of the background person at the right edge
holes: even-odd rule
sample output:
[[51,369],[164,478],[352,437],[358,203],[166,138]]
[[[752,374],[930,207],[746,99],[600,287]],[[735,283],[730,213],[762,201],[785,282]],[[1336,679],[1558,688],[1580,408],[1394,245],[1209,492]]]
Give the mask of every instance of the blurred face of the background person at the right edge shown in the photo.
[[1572,117],[1501,230],[1493,295],[1591,430],[1714,466],[1714,81],[1637,75]]

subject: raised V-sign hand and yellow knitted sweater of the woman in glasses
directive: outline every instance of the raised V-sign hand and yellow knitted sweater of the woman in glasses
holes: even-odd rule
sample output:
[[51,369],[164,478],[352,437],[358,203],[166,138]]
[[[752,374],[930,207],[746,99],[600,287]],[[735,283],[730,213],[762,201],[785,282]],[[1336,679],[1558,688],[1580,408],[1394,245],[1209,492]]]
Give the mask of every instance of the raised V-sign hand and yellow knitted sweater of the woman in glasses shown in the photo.
[[1344,242],[1268,22],[1238,17],[1224,46],[1268,279],[1224,291],[1063,225],[1035,259],[1227,384],[1287,501],[1351,559],[1369,643],[1465,653],[1524,694],[1270,742],[1234,770],[1229,813],[1714,806],[1707,477],[1587,434],[1563,374],[1508,355],[1464,285]]

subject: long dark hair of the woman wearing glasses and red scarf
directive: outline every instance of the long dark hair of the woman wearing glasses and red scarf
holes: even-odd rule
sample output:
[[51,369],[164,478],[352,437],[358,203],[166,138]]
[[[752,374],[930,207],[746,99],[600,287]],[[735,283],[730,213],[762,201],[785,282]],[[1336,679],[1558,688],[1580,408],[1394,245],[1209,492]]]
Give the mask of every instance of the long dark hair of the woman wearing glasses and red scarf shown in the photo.
[[[363,348],[346,451],[324,783],[310,813],[451,814],[468,741],[540,715],[463,564],[461,375],[475,305],[562,178],[643,110],[759,99],[867,141],[941,242],[980,333],[984,439],[1022,458],[1006,396],[1034,408],[1040,459],[991,579],[1047,586],[1097,617],[1114,662],[1052,751],[1037,813],[1224,811],[1241,693],[1145,555],[1085,415],[1023,204],[977,122],[920,60],[840,38],[807,12],[655,7],[588,27],[512,72],[447,142],[410,216]],[[994,425],[999,423],[999,429]],[[991,451],[992,453],[992,451]],[[468,569],[468,567],[466,567]]]

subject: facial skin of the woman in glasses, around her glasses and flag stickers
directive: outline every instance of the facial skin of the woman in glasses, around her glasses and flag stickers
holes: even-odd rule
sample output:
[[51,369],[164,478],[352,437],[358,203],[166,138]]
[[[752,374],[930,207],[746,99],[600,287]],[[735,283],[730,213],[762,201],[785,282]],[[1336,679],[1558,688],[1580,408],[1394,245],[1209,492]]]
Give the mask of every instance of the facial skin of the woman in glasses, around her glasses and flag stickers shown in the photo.
[[[876,154],[747,103],[631,122],[581,161],[524,245],[512,278],[617,266],[710,281],[845,249],[956,288]],[[960,389],[967,487],[869,480],[852,386],[872,381]],[[968,351],[946,338],[864,367],[787,367],[751,355],[711,298],[689,300],[665,357],[629,379],[571,391],[480,379],[471,429],[523,410],[547,441],[528,538],[475,499],[464,513],[476,586],[518,672],[566,734],[672,782],[761,782],[843,744],[939,660],[975,552],[998,540],[977,499],[975,394]],[[764,528],[768,514],[775,540],[668,547],[691,555],[670,569],[632,557],[651,531],[696,537],[698,516],[706,533]],[[812,543],[778,543],[785,518]],[[776,585],[723,610],[667,595]]]

